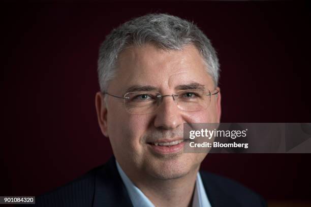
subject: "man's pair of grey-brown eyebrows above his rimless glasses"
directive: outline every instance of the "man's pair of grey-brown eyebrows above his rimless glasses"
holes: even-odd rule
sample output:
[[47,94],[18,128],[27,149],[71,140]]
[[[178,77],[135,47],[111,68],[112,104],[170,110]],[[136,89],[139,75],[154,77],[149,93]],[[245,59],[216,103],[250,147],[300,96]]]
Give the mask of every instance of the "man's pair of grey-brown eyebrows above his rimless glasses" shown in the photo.
[[[196,82],[190,84],[178,85],[175,87],[175,90],[193,90],[193,89],[205,89],[205,86]],[[126,93],[136,92],[136,91],[159,91],[159,88],[154,86],[142,86],[142,85],[133,85],[127,88]]]

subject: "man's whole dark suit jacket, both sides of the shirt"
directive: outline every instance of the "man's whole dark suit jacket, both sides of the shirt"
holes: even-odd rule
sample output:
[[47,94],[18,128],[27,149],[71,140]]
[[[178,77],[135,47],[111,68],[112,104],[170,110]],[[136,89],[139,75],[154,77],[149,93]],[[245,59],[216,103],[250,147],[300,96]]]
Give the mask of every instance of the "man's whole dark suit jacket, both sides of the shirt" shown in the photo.
[[[266,206],[265,201],[242,185],[200,171],[206,194],[212,207]],[[21,205],[26,206],[26,205]],[[115,158],[86,175],[58,189],[36,197],[29,206],[133,206],[125,185],[117,171]]]

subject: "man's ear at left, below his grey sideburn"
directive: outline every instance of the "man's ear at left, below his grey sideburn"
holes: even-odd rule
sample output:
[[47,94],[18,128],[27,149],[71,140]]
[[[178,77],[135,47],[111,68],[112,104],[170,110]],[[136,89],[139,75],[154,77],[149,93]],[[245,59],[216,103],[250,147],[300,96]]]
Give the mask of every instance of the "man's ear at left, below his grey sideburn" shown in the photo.
[[95,96],[95,106],[96,106],[96,112],[97,112],[97,119],[98,124],[102,130],[102,133],[108,137],[108,130],[107,130],[107,107],[105,98],[102,92],[97,92]]

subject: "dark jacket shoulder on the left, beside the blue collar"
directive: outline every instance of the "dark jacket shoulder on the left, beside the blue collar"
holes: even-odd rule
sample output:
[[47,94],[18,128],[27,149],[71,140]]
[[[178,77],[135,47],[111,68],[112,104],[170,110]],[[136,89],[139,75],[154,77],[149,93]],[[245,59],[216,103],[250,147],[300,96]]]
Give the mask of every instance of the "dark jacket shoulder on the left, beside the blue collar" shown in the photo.
[[35,201],[35,205],[23,206],[131,206],[114,157],[74,181],[36,196]]

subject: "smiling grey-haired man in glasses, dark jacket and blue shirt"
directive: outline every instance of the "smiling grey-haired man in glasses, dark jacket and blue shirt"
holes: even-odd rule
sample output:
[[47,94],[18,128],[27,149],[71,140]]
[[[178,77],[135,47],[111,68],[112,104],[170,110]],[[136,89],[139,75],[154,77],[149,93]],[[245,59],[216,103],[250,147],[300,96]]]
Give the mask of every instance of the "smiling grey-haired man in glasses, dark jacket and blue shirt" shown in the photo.
[[199,172],[183,153],[184,123],[218,123],[219,63],[193,23],[149,14],[114,29],[100,48],[96,110],[114,157],[37,197],[42,206],[264,206],[241,185]]

